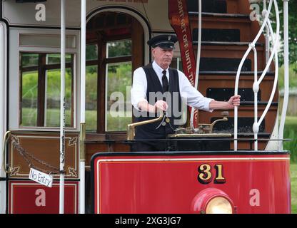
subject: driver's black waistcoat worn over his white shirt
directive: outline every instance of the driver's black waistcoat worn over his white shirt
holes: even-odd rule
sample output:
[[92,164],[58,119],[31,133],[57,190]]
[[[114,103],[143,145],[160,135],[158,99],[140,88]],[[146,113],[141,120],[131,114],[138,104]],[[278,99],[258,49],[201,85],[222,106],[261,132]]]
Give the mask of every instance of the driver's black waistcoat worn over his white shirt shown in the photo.
[[[144,72],[146,73],[146,81],[147,81],[147,90],[146,90],[146,99],[148,103],[154,105],[157,100],[163,100],[164,93],[161,83],[156,75],[156,72],[153,70],[152,63],[149,63],[147,66],[144,66]],[[179,120],[181,115],[176,115],[181,113],[181,94],[179,91],[179,82],[178,82],[178,71],[173,68],[169,68],[169,82],[168,82],[168,93],[171,95],[170,99],[166,99],[168,103],[168,111],[167,113],[170,115],[170,125],[167,123],[165,126],[158,128],[161,121],[157,121],[155,123],[149,123],[146,125],[141,125],[136,127],[136,140],[146,140],[146,139],[164,139],[166,135],[173,133],[173,129],[178,128],[178,125],[174,124],[174,120]],[[152,96],[150,98],[150,92],[153,94],[158,93],[160,96]],[[176,93],[173,93],[176,92]],[[166,94],[166,93],[165,93]],[[173,95],[174,94],[174,95]],[[171,105],[172,104],[172,105]],[[178,111],[178,112],[177,112]],[[144,120],[151,120],[153,118],[158,118],[157,114],[147,113],[147,112],[139,112],[134,109],[135,122],[140,122]],[[173,115],[174,114],[174,115]],[[173,129],[172,129],[172,128]],[[156,129],[158,128],[158,129]]]

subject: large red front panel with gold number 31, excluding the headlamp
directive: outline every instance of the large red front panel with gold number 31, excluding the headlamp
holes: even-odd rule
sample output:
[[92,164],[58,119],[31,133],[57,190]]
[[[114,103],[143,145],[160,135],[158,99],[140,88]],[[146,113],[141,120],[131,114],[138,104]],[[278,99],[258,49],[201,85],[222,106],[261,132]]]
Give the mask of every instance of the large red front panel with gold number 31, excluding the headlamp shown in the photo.
[[196,213],[208,188],[225,192],[237,213],[291,213],[286,153],[99,153],[91,163],[95,213]]

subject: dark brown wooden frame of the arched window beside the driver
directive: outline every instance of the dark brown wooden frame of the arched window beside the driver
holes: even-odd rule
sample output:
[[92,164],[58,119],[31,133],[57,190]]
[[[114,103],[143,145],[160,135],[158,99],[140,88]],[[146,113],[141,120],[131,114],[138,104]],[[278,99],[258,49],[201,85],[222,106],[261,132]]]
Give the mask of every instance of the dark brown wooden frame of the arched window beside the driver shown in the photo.
[[[109,12],[110,13],[110,12]],[[113,12],[112,12],[113,13]],[[104,14],[104,13],[102,13]],[[115,13],[116,14],[116,13]],[[120,13],[122,14],[122,13]],[[127,16],[127,21],[129,21],[129,15]],[[116,18],[116,17],[115,17]],[[106,24],[104,15],[103,18],[100,18],[101,21],[103,21],[103,25],[100,25],[97,27],[96,20],[89,21],[89,28],[88,31],[91,33],[96,33],[95,36],[92,36],[93,38],[87,39],[87,45],[91,44],[97,44],[98,45],[98,60],[96,61],[86,61],[86,66],[96,65],[98,68],[98,78],[97,78],[97,129],[95,132],[89,132],[87,133],[86,137],[89,140],[124,140],[126,139],[126,131],[106,131],[105,130],[105,100],[106,100],[106,63],[116,63],[121,61],[131,61],[131,71],[132,73],[136,70],[136,68],[139,68],[141,66],[144,66],[144,28],[141,26],[139,21],[131,17],[131,20],[129,23],[126,23],[126,25],[116,25],[116,26],[110,26]],[[105,36],[104,32],[107,28],[116,29],[116,28],[131,28],[131,33],[126,35],[116,35],[116,36]],[[124,39],[131,39],[132,46],[131,46],[131,56],[129,56],[129,59],[126,58],[126,56],[123,56],[123,58],[109,58],[104,62],[104,58],[106,56],[106,43],[110,41],[120,41]],[[100,46],[101,45],[101,46]],[[104,77],[102,77],[104,76]],[[133,81],[133,76],[131,76]],[[134,122],[134,117],[132,116],[132,122]]]

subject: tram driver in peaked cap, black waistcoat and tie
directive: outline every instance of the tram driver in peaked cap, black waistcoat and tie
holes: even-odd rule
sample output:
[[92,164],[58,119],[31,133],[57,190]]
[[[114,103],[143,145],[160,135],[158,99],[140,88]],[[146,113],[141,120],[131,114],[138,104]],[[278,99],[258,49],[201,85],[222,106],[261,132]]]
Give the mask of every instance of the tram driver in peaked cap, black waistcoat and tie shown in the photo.
[[191,86],[184,73],[175,68],[169,68],[176,41],[178,38],[172,35],[151,38],[147,43],[151,46],[153,62],[134,71],[131,88],[134,120],[136,122],[151,120],[156,118],[158,111],[166,113],[161,122],[136,127],[136,143],[132,147],[134,151],[168,150],[168,145],[162,140],[178,128],[175,120],[181,118],[181,115],[173,114],[181,114],[181,112],[174,112],[177,108],[181,111],[181,100],[185,100],[191,107],[208,112],[216,109],[233,109],[235,105],[240,105],[240,95],[233,95],[228,101],[204,97]]

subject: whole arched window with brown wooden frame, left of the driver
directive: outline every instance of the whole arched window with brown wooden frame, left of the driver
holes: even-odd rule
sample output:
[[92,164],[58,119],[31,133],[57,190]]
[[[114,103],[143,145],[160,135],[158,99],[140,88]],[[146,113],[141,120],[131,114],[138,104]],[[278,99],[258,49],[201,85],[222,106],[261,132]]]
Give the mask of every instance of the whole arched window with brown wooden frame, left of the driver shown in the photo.
[[86,131],[124,137],[132,122],[132,73],[144,66],[144,28],[128,14],[101,12],[86,24],[86,43]]

